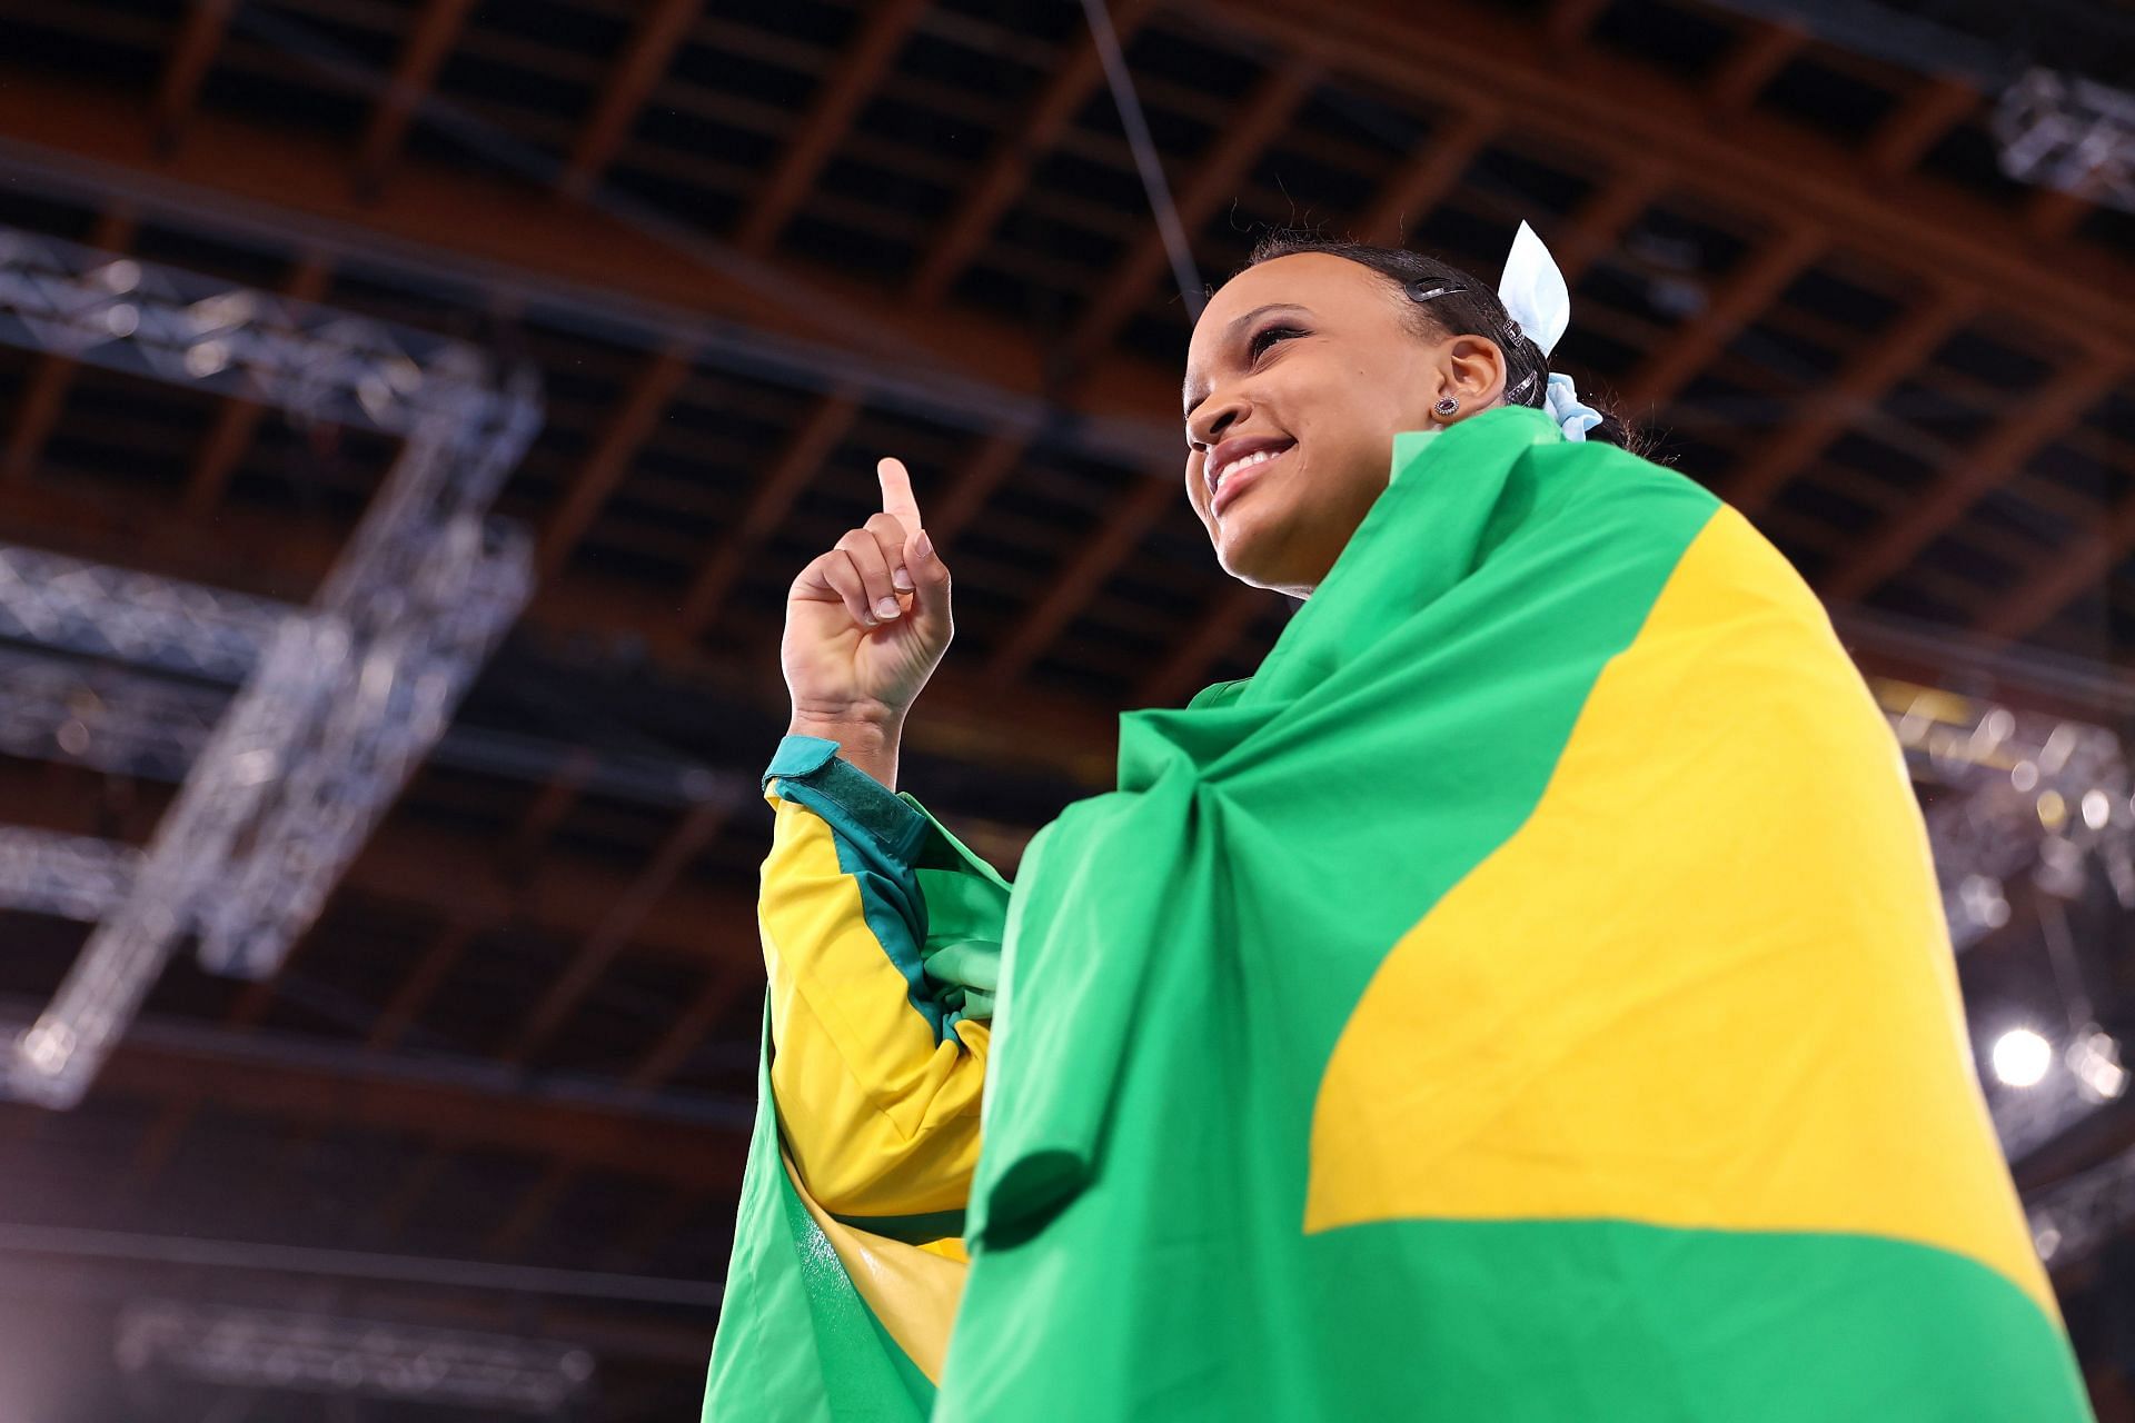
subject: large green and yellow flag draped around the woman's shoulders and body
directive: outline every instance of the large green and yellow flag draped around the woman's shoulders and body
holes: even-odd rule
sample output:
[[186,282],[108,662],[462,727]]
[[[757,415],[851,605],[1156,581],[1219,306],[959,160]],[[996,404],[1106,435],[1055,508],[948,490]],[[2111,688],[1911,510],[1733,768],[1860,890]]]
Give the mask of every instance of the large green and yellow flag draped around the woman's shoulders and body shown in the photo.
[[1001,937],[933,1419],[2088,1417],[1868,691],[1539,412],[1398,437]]

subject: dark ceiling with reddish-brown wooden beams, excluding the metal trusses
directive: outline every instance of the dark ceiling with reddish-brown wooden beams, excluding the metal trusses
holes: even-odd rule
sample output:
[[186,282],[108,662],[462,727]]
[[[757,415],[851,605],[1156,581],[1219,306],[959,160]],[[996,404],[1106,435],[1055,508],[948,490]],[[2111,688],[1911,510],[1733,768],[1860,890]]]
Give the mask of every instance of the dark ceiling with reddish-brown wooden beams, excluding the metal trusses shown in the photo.
[[[1112,19],[1204,282],[1270,226],[1494,273],[1529,220],[1573,284],[1561,367],[1744,508],[1870,668],[2124,689],[2135,215],[2003,177],[1975,81],[1704,0]],[[2077,21],[2041,23],[2065,49]],[[2124,64],[2116,34],[2084,53]],[[873,461],[912,465],[959,582],[907,785],[1006,862],[1104,785],[1121,708],[1249,672],[1290,610],[1215,570],[1179,495],[1185,301],[1082,9],[0,0],[0,224],[459,335],[547,401],[497,499],[540,585],[455,728],[523,755],[448,738],[273,981],[179,962],[81,1109],[0,1105],[0,1248],[43,1231],[13,1240],[66,1278],[66,1406],[111,1417],[77,1314],[310,1291],[583,1340],[594,1417],[685,1417],[715,1291],[596,1284],[724,1272],[784,589]],[[0,540],[299,602],[393,457],[32,352],[0,350]],[[0,794],[145,841],[171,787],[0,760]],[[2084,924],[2094,954],[2122,932]],[[21,1003],[83,934],[0,932]],[[173,1263],[177,1237],[254,1254]],[[263,1252],[320,1242],[468,1267]],[[540,1295],[508,1265],[579,1274]],[[2101,1269],[2067,1284],[2109,1412],[2135,1329]]]

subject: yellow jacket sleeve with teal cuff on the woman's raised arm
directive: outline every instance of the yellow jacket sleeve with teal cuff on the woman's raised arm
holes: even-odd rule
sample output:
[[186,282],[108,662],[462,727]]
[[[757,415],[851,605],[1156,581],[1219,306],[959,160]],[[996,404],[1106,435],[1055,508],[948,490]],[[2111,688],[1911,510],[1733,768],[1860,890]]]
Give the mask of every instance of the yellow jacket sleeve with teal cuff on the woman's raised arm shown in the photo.
[[837,742],[788,736],[764,794],[771,1092],[794,1169],[877,1229],[961,1212],[1008,881]]

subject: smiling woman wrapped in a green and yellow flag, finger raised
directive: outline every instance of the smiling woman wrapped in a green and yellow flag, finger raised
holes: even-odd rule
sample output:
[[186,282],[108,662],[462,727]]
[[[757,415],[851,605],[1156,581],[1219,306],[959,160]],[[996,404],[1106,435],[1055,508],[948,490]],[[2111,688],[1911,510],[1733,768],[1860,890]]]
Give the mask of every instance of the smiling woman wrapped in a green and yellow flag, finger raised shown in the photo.
[[1307,602],[1012,892],[890,794],[950,636],[895,461],[794,582],[707,1417],[2088,1417],[1879,713],[1584,439],[1524,228],[1501,294],[1317,243],[1215,294],[1187,499]]

